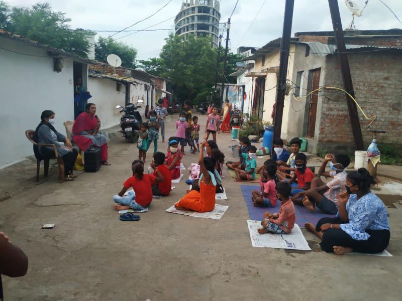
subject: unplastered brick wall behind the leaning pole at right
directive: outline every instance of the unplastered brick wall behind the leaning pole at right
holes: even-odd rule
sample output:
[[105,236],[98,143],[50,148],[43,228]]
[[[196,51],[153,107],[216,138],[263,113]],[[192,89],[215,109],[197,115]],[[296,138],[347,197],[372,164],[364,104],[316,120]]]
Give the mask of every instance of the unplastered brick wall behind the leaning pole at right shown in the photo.
[[[381,143],[398,143],[402,136],[402,55],[387,52],[348,54],[356,100],[366,113],[377,115],[372,129],[386,130],[378,134]],[[325,86],[343,88],[342,75],[336,55],[327,56]],[[318,148],[353,150],[353,135],[345,94],[322,90],[322,110]],[[372,133],[366,130],[367,121],[358,110],[365,147]]]

